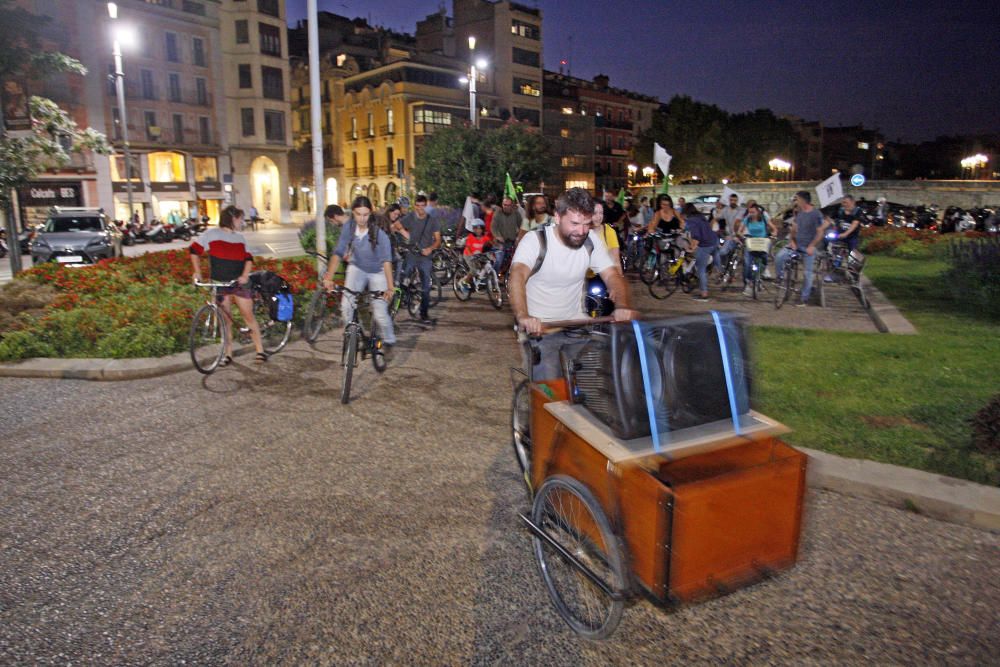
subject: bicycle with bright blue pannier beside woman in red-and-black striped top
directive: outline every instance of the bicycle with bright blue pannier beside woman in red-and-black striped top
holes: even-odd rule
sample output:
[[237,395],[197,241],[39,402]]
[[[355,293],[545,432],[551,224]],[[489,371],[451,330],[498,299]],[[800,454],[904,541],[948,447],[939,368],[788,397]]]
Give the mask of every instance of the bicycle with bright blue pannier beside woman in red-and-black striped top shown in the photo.
[[[222,309],[218,303],[218,292],[221,287],[232,287],[236,281],[231,282],[196,282],[197,287],[207,287],[211,289],[211,297],[208,302],[199,308],[191,318],[191,329],[188,334],[188,348],[191,354],[191,362],[200,373],[209,375],[219,367],[222,359],[226,356],[226,340],[228,339],[229,327],[234,324],[232,315]],[[271,319],[271,312],[268,304],[264,300],[263,294],[258,289],[253,290],[253,314],[257,325],[260,328],[261,342],[264,344],[264,352],[268,355],[280,352],[288,344],[288,338],[292,331],[292,322],[279,322]],[[242,326],[236,330],[238,341],[241,345],[246,345],[252,339],[250,327]]]

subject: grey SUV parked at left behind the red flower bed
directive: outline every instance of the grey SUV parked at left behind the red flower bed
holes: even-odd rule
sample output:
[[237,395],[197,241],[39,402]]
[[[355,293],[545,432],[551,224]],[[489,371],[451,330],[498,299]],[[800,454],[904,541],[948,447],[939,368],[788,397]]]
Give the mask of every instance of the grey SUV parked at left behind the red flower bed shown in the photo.
[[104,213],[92,208],[53,208],[31,240],[31,259],[36,264],[93,264],[121,254],[121,232]]

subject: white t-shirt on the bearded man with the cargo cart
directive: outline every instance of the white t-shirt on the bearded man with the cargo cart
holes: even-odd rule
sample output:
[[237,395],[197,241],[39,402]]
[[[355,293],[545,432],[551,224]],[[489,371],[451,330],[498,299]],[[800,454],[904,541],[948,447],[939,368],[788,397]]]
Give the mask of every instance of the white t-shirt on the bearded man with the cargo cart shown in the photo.
[[[544,229],[547,241],[545,261],[538,273],[528,278],[525,288],[528,314],[545,322],[583,319],[583,284],[587,269],[600,274],[614,265],[608,255],[608,247],[604,239],[591,231],[589,236],[594,244],[593,253],[588,253],[586,246],[568,248],[559,240],[555,225]],[[512,262],[532,269],[540,248],[538,233],[528,232],[518,243]]]

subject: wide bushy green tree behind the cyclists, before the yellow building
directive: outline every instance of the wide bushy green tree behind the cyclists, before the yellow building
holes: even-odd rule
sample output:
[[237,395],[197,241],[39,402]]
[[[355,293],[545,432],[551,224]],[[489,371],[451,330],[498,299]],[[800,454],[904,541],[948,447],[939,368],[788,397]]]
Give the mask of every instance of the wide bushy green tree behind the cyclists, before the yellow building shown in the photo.
[[478,192],[503,192],[506,174],[514,181],[539,183],[549,175],[548,142],[516,121],[495,130],[446,127],[426,138],[413,175],[420,189],[435,191],[443,204],[461,206]]

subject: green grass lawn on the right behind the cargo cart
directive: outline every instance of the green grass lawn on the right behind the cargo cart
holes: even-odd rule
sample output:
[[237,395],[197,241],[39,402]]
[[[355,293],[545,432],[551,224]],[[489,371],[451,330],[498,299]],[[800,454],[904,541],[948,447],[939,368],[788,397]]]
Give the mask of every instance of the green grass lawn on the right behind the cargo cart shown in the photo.
[[1000,392],[1000,323],[952,299],[946,268],[869,258],[916,336],[755,329],[757,405],[789,442],[1000,485],[1000,453],[972,450],[967,421]]

